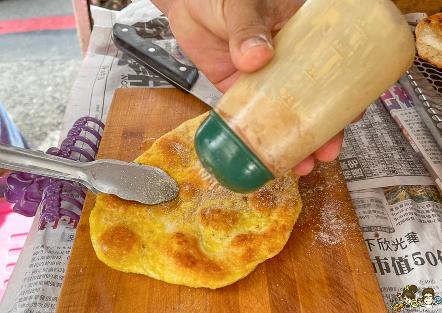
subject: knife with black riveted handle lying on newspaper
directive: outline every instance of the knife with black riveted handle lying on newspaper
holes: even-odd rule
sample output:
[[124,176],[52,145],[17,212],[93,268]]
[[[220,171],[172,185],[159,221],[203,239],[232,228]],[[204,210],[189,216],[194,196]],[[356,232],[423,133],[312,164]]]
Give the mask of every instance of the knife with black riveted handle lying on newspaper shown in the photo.
[[196,67],[178,62],[160,46],[139,36],[135,27],[113,26],[115,46],[183,92],[215,107],[222,93]]

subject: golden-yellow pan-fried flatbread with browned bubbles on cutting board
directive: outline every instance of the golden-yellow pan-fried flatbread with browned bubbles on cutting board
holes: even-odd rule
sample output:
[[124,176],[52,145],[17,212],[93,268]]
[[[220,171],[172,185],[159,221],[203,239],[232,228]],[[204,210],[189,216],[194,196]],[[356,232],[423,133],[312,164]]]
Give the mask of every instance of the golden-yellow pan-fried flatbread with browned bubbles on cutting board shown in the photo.
[[136,160],[174,178],[176,199],[144,205],[97,196],[90,235],[104,263],[172,284],[218,288],[284,247],[301,212],[298,176],[289,172],[249,195],[203,179],[193,136],[206,116],[164,135]]

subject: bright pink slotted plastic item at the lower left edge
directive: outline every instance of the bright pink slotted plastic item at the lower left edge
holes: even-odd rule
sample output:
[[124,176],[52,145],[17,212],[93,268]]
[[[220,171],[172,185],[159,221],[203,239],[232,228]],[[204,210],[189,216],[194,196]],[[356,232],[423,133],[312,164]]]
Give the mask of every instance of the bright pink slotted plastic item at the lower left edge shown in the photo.
[[33,220],[14,213],[12,207],[13,204],[0,198],[0,300]]

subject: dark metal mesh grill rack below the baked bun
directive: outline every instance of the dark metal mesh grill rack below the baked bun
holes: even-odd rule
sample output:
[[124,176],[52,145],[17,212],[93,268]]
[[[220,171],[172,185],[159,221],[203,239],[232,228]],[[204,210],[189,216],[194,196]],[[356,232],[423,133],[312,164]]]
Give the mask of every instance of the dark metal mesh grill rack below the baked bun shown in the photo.
[[[417,23],[409,24],[414,34]],[[416,110],[442,148],[442,70],[416,53],[412,67],[399,82],[414,100]]]

